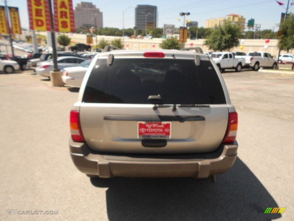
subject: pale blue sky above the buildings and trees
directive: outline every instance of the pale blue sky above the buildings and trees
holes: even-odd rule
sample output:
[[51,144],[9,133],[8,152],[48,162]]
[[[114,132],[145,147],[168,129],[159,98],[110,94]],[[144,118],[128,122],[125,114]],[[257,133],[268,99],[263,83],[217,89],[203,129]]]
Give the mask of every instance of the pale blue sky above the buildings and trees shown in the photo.
[[[163,24],[174,24],[179,27],[183,24],[180,12],[190,12],[186,18],[197,21],[199,27],[206,27],[206,20],[211,18],[226,17],[228,14],[239,14],[248,19],[255,19],[255,24],[261,24],[261,29],[274,29],[277,31],[281,13],[286,11],[288,0],[279,0],[284,6],[274,0],[84,0],[92,2],[103,12],[103,27],[123,27],[123,11],[125,28],[135,26],[135,11],[129,6],[148,4],[157,6],[158,27]],[[290,0],[290,3],[293,0]],[[73,0],[74,7],[81,0]],[[7,0],[8,6],[19,7],[21,26],[29,27],[27,0]],[[2,1],[2,4],[4,2]],[[294,6],[289,4],[289,11],[294,12]],[[178,19],[181,19],[180,21]]]

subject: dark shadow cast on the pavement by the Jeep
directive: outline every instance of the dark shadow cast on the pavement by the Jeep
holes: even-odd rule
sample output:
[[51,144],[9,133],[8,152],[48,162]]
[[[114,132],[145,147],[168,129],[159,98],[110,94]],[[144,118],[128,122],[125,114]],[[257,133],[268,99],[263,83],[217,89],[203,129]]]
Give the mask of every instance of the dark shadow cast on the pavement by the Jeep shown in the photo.
[[274,220],[264,214],[279,207],[250,169],[237,158],[233,168],[209,179],[122,178],[91,179],[108,187],[109,220]]

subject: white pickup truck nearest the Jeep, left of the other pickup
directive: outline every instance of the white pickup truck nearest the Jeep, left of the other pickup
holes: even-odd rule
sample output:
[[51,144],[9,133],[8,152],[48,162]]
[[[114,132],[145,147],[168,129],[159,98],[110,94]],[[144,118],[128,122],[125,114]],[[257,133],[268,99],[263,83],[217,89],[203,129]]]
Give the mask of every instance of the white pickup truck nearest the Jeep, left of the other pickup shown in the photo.
[[245,58],[235,58],[231,52],[214,52],[211,53],[211,57],[220,71],[235,69],[236,72],[239,72],[245,65]]

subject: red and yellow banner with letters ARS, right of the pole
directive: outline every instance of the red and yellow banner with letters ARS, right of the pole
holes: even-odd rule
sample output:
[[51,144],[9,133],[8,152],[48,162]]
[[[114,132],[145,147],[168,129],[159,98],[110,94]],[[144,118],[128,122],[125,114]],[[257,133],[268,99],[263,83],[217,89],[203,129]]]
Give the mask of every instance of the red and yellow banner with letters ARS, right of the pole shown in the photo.
[[75,32],[72,0],[53,0],[56,32]]

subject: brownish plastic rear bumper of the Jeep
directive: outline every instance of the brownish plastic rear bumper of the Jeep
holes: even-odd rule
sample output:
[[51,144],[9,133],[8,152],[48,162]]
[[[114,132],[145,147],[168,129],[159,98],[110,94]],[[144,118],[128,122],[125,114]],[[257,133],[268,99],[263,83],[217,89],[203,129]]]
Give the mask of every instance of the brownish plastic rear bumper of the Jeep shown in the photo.
[[221,145],[207,154],[110,154],[90,150],[69,140],[71,159],[83,173],[99,177],[207,178],[228,171],[235,163],[238,143]]

